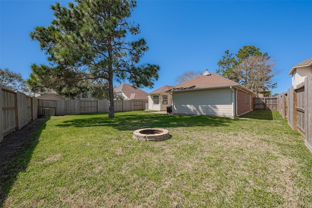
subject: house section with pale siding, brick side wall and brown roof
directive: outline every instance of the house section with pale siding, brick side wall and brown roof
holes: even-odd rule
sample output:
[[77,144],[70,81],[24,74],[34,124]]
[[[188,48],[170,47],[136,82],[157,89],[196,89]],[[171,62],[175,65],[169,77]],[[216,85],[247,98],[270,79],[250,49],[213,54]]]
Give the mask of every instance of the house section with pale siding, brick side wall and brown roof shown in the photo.
[[206,70],[200,76],[166,91],[172,95],[173,113],[238,117],[254,110],[257,94],[225,77]]

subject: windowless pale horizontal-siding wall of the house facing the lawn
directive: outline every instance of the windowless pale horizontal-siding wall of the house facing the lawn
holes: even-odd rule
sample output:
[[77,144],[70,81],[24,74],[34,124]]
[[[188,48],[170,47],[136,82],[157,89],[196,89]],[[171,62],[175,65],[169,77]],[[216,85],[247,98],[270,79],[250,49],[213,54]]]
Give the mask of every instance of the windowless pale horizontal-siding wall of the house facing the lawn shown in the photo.
[[233,113],[230,88],[174,92],[173,96],[176,114],[231,117]]

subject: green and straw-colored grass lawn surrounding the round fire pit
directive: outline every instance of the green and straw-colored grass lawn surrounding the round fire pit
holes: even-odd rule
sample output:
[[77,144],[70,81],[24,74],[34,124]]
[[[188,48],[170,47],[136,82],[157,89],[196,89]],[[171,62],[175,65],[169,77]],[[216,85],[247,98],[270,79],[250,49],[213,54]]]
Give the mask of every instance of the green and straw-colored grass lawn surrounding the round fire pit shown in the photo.
[[[52,116],[2,167],[3,207],[312,207],[312,153],[271,111]],[[170,139],[137,141],[141,128]]]

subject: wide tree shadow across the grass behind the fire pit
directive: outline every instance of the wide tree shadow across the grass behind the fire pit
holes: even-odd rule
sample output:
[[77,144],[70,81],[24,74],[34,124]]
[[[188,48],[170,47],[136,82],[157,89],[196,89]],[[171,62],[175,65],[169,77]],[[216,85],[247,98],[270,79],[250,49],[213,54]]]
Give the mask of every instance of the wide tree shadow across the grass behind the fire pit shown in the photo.
[[[90,114],[89,114],[90,116]],[[58,127],[112,127],[118,131],[136,130],[141,128],[171,128],[193,126],[228,126],[233,122],[228,117],[214,117],[204,115],[167,115],[156,113],[119,114],[115,118],[88,117],[74,118],[58,124]]]

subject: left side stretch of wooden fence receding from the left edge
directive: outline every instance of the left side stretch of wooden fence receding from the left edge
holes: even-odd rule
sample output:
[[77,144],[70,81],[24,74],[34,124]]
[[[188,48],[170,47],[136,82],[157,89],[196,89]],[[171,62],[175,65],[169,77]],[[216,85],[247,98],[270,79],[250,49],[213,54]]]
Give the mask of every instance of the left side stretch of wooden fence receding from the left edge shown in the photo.
[[0,141],[37,118],[37,98],[14,92],[0,85]]

